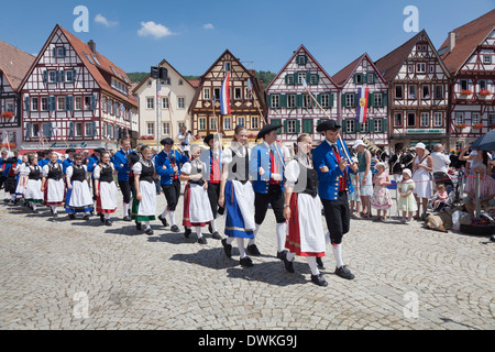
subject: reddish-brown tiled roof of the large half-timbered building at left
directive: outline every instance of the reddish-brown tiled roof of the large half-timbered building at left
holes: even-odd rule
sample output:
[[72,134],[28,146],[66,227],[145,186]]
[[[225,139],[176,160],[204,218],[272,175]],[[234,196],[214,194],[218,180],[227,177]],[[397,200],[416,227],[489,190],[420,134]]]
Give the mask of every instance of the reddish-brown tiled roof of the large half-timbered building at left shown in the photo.
[[[43,46],[43,50],[40,52],[38,56],[36,57],[34,64],[32,65],[29,74],[31,74],[36,66],[37,62],[44,55],[46,47],[51,43],[54,34],[57,32],[57,30],[61,30],[62,33],[66,36],[67,41],[69,42],[70,46],[74,48],[74,51],[77,53],[80,61],[85,64],[86,68],[91,74],[92,78],[96,80],[96,82],[100,86],[102,90],[106,92],[118,97],[120,99],[125,100],[127,102],[138,107],[136,102],[132,98],[132,91],[131,91],[131,80],[129,79],[127,73],[113,64],[110,59],[108,59],[106,56],[101,55],[100,53],[96,52],[94,53],[88,44],[81,42],[78,37],[73,35],[67,30],[63,29],[61,25],[55,25],[55,29],[53,30],[52,34],[50,35],[48,40],[46,41],[45,45]],[[89,61],[88,56],[91,61]],[[96,61],[95,61],[96,57]],[[111,84],[103,77],[103,75],[108,75],[110,77],[117,78],[121,80],[122,82],[127,84],[129,87],[129,96],[123,95],[119,90],[111,87]],[[24,78],[22,86],[24,86],[25,80],[28,79],[29,75]]]

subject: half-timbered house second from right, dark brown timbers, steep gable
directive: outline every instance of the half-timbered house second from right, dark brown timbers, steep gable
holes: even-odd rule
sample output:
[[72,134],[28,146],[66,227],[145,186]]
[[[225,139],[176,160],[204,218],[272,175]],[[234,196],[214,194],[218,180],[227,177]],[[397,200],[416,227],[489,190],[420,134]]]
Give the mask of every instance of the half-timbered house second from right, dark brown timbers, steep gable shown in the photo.
[[375,63],[388,84],[394,148],[449,142],[450,74],[425,30]]

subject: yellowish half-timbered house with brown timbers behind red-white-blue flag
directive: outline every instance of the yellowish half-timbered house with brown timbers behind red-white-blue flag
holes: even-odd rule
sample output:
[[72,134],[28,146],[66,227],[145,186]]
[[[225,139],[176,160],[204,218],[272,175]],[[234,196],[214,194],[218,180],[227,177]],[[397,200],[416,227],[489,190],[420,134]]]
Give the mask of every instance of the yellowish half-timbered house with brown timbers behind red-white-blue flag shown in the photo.
[[[230,114],[221,114],[220,92],[223,80],[230,74]],[[221,133],[231,138],[237,125],[244,125],[255,135],[266,121],[266,105],[261,82],[254,70],[246,69],[239,58],[227,50],[200,77],[189,111],[193,133],[206,136]]]

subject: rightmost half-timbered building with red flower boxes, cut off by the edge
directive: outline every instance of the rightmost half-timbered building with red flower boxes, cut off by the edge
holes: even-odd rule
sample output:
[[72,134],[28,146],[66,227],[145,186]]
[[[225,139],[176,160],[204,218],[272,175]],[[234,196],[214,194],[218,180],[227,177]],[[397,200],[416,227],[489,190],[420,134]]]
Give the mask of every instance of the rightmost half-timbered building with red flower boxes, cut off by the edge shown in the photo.
[[495,10],[452,32],[439,53],[452,75],[451,146],[495,128]]

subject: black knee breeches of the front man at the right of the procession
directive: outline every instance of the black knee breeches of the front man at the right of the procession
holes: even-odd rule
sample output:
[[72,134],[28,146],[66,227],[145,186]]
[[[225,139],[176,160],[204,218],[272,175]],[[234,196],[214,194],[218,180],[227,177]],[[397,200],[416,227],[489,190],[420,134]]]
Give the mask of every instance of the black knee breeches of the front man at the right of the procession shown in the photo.
[[342,238],[351,228],[351,212],[349,211],[348,193],[339,191],[336,200],[322,199],[324,219],[330,231],[332,244],[341,244]]

